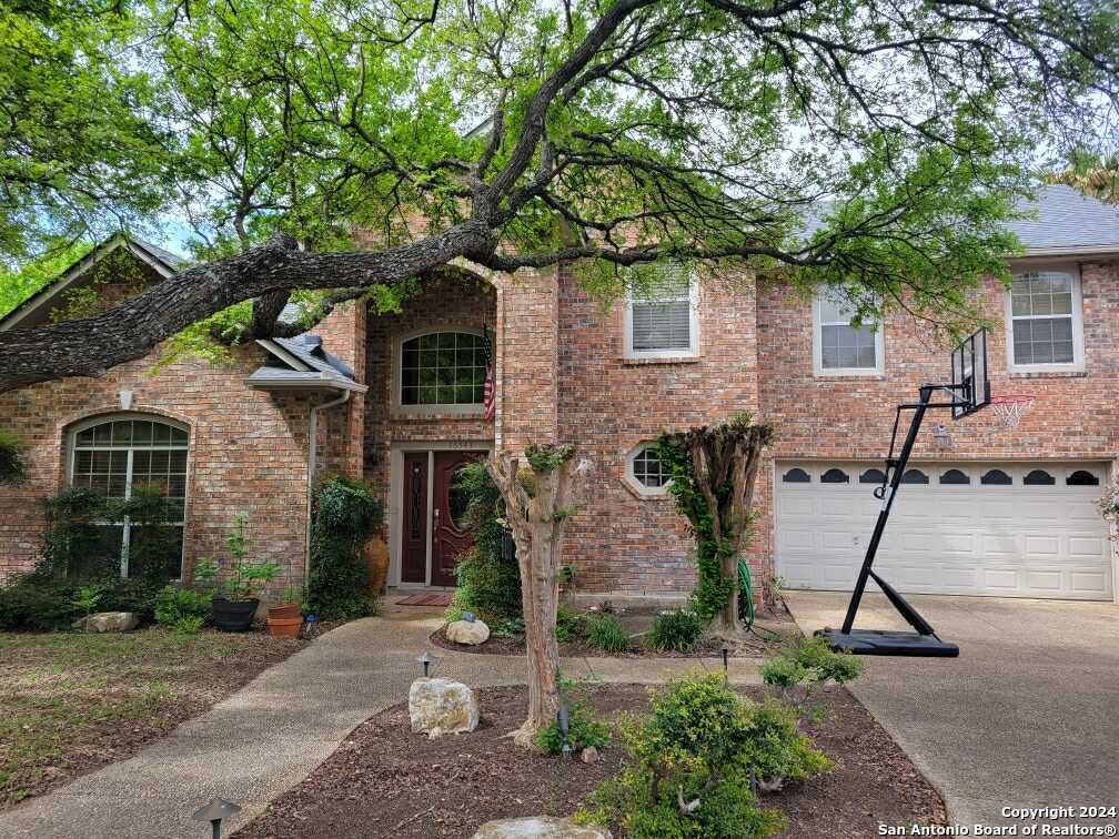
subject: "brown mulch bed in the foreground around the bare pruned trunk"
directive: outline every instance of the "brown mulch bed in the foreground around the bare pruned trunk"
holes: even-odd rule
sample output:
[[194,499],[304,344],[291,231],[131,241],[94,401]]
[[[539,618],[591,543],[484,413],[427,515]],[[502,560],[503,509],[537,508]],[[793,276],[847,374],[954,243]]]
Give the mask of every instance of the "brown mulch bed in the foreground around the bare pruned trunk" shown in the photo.
[[[761,696],[760,688],[746,692]],[[602,714],[639,710],[647,699],[647,689],[636,686],[604,687],[590,697]],[[502,735],[524,716],[524,688],[483,689],[480,701],[476,732],[433,741],[412,733],[404,704],[378,714],[235,836],[470,837],[491,819],[570,816],[621,765],[617,746],[592,764],[515,746]],[[873,837],[880,823],[943,822],[940,796],[866,709],[841,689],[822,701],[827,719],[806,723],[805,730],[838,765],[828,775],[762,798],[764,807],[788,817],[783,836]]]

